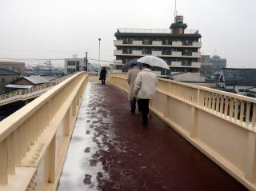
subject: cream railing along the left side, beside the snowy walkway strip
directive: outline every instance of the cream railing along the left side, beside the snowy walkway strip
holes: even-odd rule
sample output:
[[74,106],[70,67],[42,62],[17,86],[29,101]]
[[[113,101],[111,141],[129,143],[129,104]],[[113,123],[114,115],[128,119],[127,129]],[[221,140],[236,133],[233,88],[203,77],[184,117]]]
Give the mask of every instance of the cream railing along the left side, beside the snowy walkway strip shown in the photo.
[[0,190],[55,190],[82,94],[84,72],[0,121]]

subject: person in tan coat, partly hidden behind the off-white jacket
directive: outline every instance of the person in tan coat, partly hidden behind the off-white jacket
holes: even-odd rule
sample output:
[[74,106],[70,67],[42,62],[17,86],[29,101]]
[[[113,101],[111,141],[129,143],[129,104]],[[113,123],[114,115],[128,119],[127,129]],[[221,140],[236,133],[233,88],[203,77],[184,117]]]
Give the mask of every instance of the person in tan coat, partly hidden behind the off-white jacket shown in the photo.
[[[129,93],[128,93],[128,100],[130,101],[130,113],[135,113],[136,110],[136,97],[134,97],[134,82],[140,70],[136,63],[131,64],[130,70],[128,70],[127,74],[127,82],[129,85]],[[140,112],[139,105],[138,105],[138,112]]]

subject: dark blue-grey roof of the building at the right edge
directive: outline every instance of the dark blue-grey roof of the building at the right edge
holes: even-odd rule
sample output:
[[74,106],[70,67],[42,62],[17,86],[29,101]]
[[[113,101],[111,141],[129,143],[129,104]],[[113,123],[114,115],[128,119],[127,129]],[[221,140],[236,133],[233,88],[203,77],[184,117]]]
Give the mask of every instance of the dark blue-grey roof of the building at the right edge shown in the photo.
[[256,85],[256,69],[222,69],[224,81],[226,85],[242,85],[255,86]]

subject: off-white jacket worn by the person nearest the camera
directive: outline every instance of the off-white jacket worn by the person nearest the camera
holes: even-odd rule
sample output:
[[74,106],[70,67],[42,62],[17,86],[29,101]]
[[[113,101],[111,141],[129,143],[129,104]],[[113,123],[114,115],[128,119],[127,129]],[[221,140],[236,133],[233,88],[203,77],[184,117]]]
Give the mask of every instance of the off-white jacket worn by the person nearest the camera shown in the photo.
[[140,99],[153,99],[158,77],[148,68],[143,69],[134,82],[134,95]]

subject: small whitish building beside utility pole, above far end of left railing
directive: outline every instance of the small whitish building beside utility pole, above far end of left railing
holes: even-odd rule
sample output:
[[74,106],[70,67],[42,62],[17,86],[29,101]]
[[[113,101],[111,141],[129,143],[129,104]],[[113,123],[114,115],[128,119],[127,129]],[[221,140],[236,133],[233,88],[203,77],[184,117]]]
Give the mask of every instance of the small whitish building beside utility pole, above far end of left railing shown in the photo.
[[67,73],[74,73],[86,70],[86,64],[84,59],[77,58],[77,55],[73,55],[73,58],[66,58],[64,64],[64,69]]

